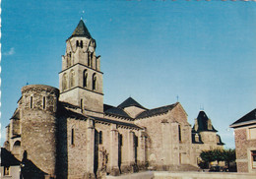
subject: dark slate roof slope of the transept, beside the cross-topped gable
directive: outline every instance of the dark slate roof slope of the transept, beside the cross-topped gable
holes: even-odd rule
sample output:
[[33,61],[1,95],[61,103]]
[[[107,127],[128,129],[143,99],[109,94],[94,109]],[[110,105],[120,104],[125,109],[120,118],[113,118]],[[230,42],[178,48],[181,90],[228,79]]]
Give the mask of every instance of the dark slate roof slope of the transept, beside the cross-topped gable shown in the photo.
[[171,105],[166,105],[166,106],[158,107],[158,108],[155,108],[155,109],[150,109],[150,110],[143,111],[142,113],[140,113],[136,117],[136,119],[151,117],[151,116],[166,113],[168,110],[173,109],[177,104],[178,104],[178,102],[176,102],[174,104],[171,104]]

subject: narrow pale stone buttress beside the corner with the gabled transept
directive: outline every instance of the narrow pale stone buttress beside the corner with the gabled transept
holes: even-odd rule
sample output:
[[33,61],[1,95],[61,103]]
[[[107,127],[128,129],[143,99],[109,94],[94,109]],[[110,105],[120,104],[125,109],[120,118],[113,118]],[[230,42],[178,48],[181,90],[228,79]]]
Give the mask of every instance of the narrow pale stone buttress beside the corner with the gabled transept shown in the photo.
[[145,130],[140,131],[139,149],[138,149],[139,167],[144,169],[146,164],[146,134]]

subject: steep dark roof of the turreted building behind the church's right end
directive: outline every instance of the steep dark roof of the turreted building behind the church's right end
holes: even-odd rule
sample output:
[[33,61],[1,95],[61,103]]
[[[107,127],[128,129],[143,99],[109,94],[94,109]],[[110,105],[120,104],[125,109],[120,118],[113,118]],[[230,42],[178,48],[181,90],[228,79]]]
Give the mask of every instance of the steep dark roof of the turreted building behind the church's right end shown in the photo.
[[214,126],[212,125],[212,130],[208,129],[208,120],[210,120],[205,111],[200,111],[197,116],[197,123],[198,123],[198,130],[195,130],[195,126],[193,127],[192,131],[195,132],[202,132],[202,131],[211,131],[211,132],[218,132]]

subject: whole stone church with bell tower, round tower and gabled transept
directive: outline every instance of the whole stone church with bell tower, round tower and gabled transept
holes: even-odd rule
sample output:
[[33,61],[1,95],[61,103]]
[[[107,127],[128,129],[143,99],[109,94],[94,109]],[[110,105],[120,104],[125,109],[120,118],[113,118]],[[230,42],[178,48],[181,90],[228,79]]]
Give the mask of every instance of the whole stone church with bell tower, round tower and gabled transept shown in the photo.
[[201,127],[206,121],[192,130],[179,102],[154,109],[132,97],[118,106],[104,104],[102,79],[96,40],[81,20],[66,40],[59,89],[22,88],[6,128],[5,149],[21,161],[24,178],[193,170],[205,136],[223,145],[211,124]]

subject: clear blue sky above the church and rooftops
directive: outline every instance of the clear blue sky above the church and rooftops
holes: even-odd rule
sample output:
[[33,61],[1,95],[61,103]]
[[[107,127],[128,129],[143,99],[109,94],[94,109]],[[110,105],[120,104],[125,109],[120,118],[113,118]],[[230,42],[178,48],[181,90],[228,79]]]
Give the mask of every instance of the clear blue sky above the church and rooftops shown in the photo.
[[101,56],[104,103],[178,100],[192,127],[206,112],[226,149],[234,149],[228,126],[256,107],[256,2],[3,0],[1,8],[0,145],[22,87],[59,87],[65,41],[81,17]]

